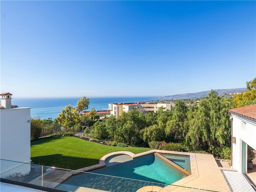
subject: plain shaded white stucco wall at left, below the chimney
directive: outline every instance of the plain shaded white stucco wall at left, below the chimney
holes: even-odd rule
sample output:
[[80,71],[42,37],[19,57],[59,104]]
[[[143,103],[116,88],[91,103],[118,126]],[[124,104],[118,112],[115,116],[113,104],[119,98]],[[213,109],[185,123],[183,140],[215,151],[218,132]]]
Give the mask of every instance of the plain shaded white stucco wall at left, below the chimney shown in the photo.
[[0,110],[1,159],[30,162],[30,108]]

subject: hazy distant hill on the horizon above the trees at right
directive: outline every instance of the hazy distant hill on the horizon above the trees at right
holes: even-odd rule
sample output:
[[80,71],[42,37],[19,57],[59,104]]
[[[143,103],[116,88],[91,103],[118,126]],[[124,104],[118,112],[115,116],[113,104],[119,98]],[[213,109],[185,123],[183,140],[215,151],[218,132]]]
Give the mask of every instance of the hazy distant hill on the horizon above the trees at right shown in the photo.
[[[234,89],[216,89],[215,91],[218,92],[218,95],[221,96],[222,94],[230,94],[230,93],[240,93],[246,91],[246,88],[234,88]],[[211,90],[202,91],[197,93],[185,93],[185,94],[177,94],[177,95],[168,95],[161,97],[161,99],[168,99],[168,100],[185,100],[185,99],[196,99],[208,96]]]

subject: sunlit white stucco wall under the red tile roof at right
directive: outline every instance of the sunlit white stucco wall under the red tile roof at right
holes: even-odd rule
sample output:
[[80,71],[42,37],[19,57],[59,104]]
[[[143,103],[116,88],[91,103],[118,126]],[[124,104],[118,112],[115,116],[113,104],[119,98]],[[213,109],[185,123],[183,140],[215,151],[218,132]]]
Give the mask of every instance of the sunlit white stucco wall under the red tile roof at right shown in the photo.
[[238,172],[242,172],[242,141],[256,149],[256,122],[236,114],[231,114],[231,116],[233,118],[233,137],[236,137],[236,144],[232,142],[232,166]]

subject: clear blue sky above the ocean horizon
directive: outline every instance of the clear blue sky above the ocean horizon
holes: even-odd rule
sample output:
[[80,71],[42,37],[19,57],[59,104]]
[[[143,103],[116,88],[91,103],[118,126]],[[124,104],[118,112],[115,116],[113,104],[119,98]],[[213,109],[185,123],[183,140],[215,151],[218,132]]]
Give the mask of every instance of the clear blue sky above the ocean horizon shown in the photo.
[[256,77],[256,1],[1,0],[1,92],[165,96]]

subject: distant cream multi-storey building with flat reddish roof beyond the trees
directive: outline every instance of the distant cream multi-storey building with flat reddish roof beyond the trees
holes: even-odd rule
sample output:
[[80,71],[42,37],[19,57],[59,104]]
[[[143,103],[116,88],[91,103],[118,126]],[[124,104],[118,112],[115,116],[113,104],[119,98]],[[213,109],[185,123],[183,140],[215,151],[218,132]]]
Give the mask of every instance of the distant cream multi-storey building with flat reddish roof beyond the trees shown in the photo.
[[163,107],[164,110],[172,110],[174,103],[149,103],[149,102],[138,102],[138,103],[114,103],[108,104],[108,110],[110,110],[110,115],[122,116],[122,112],[128,112],[130,110],[139,110],[145,112],[156,113],[158,108]]

